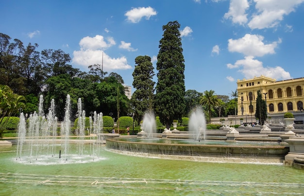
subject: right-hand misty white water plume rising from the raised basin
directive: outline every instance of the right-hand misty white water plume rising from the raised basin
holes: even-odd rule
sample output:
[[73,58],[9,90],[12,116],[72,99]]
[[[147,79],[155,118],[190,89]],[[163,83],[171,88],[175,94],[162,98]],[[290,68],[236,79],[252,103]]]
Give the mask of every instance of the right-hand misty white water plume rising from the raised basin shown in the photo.
[[189,131],[193,131],[194,140],[205,140],[206,137],[206,119],[202,108],[196,107],[191,111],[189,119]]

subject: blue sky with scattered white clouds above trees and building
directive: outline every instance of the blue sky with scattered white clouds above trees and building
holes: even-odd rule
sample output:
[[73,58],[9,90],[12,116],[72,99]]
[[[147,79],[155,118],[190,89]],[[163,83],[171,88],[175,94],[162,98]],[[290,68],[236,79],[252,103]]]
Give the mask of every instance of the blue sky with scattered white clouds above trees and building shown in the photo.
[[229,95],[237,79],[304,77],[304,0],[1,0],[0,17],[12,41],[61,49],[81,71],[103,53],[103,70],[129,86],[139,55],[157,73],[162,26],[174,20],[186,90]]

